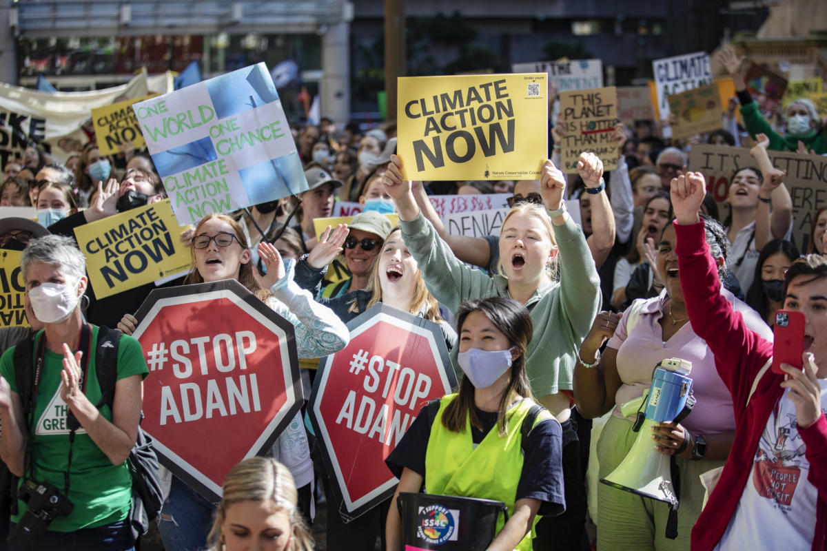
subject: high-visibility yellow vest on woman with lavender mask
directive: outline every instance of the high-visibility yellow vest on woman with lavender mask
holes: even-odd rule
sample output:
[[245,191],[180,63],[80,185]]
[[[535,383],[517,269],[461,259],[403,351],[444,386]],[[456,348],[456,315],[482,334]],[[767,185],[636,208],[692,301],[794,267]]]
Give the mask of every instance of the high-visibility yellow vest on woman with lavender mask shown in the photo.
[[[508,507],[510,517],[514,514],[517,485],[523,472],[520,429],[535,402],[524,399],[511,406],[505,414],[508,435],[501,437],[495,425],[475,449],[471,439],[470,416],[466,418],[466,427],[461,433],[447,430],[442,425],[442,413],[456,397],[457,394],[442,397],[431,426],[425,452],[425,492],[502,501]],[[550,418],[551,414],[543,410],[534,424]],[[534,517],[535,524],[538,519],[539,515]],[[505,517],[500,513],[495,534],[500,534],[504,524]],[[533,536],[532,527],[514,549],[531,551]]]

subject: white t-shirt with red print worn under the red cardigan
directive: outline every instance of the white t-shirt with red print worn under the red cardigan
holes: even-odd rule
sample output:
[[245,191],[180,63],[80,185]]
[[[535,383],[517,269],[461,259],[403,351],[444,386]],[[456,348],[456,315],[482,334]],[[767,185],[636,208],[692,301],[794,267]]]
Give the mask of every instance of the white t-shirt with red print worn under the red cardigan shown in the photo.
[[[821,409],[827,380],[820,379]],[[810,549],[818,490],[807,480],[810,463],[798,434],[796,406],[787,390],[758,442],[753,472],[716,550]]]

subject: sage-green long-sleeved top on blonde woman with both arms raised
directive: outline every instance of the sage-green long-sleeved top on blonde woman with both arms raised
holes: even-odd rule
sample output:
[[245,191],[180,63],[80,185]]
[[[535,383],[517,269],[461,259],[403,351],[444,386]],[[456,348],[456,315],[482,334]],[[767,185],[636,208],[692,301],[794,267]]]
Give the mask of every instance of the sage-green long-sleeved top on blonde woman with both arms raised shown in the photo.
[[[509,296],[507,278],[490,278],[462,264],[422,213],[412,221],[400,221],[400,226],[428,291],[452,312],[468,299]],[[577,351],[600,306],[600,278],[580,226],[569,218],[563,226],[554,226],[554,233],[560,249],[560,283],[539,288],[525,304],[534,325],[526,372],[536,397],[571,390]]]

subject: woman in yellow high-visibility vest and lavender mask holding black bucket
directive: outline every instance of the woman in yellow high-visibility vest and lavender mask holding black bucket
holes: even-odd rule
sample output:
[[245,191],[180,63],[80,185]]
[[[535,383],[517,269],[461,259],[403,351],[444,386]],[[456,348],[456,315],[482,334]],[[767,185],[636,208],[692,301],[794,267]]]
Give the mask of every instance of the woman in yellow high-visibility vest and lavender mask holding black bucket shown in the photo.
[[[560,515],[566,508],[562,428],[534,401],[525,372],[532,317],[511,298],[478,298],[461,305],[457,327],[459,391],[432,402],[436,412],[432,404],[423,406],[385,460],[399,477],[386,522],[387,549],[408,549],[395,501],[400,492],[424,486],[429,494],[504,502],[508,520],[498,515],[489,549],[529,551],[537,515]],[[521,434],[528,434],[527,441]]]

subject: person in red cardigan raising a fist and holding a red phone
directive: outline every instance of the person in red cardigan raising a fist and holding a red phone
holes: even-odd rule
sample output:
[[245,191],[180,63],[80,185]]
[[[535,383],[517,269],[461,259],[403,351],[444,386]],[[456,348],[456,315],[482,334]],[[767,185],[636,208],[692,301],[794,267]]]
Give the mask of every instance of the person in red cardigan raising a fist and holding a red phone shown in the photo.
[[672,181],[675,253],[686,316],[715,354],[732,396],[735,436],[692,529],[692,549],[824,549],[827,259],[810,254],[786,271],[784,308],[805,317],[804,354],[801,367],[781,363],[777,373],[770,368],[772,341],[751,330],[719,292],[718,261],[697,215],[705,187],[700,173]]

